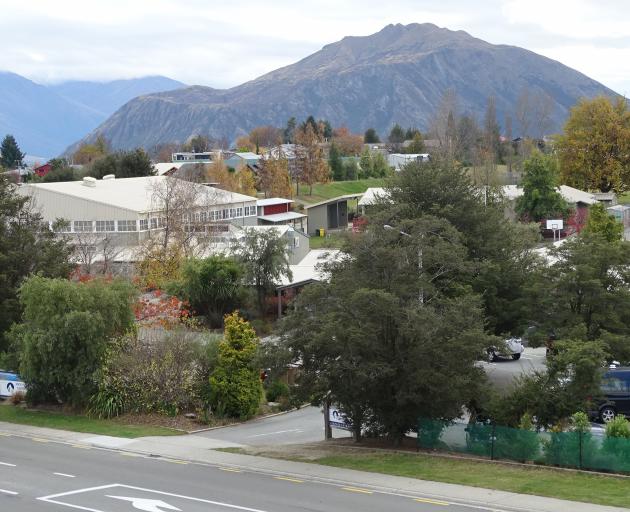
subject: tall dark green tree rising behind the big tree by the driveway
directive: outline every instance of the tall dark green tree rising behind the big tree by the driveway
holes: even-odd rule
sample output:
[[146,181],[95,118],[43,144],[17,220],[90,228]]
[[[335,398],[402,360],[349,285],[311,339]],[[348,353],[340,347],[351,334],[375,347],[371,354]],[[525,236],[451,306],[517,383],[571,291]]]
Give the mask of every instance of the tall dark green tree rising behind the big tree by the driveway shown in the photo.
[[521,335],[527,321],[523,301],[538,262],[539,229],[506,222],[499,194],[480,194],[466,169],[439,155],[431,162],[407,164],[390,186],[392,203],[398,205],[395,219],[432,215],[458,230],[478,265],[469,285],[483,297],[488,329]]

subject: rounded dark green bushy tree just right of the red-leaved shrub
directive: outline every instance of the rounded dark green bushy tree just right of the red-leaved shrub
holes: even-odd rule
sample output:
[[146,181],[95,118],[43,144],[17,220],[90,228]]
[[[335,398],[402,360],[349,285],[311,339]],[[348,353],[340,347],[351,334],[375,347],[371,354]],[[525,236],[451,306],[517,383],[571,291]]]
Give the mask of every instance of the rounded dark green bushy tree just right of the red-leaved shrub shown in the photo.
[[221,326],[223,316],[241,305],[243,268],[233,259],[225,256],[189,259],[181,276],[178,295],[213,327]]

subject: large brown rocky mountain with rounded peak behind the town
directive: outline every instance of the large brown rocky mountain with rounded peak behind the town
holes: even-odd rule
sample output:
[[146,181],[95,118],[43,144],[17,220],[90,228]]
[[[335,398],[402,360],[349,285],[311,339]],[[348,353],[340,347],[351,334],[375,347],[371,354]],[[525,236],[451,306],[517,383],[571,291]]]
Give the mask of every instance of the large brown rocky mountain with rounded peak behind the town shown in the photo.
[[[193,134],[227,137],[289,117],[326,118],[385,135],[393,123],[426,128],[443,93],[459,110],[483,117],[489,96],[499,122],[523,89],[553,98],[558,130],[581,97],[615,93],[554,60],[522,48],[492,45],[431,24],[389,25],[345,37],[305,59],[231,89],[193,86],[147,94],[125,104],[87,136],[103,134],[116,148],[185,141]],[[515,133],[519,127],[515,126]]]

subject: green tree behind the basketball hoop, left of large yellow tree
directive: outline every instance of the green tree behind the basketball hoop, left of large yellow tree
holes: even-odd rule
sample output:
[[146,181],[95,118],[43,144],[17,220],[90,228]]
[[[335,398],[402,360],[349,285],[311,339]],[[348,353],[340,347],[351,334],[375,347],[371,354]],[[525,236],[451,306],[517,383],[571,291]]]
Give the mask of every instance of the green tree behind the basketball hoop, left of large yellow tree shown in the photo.
[[525,162],[523,195],[516,202],[516,211],[522,219],[540,222],[566,216],[569,207],[558,192],[557,173],[556,160],[551,156],[534,153]]

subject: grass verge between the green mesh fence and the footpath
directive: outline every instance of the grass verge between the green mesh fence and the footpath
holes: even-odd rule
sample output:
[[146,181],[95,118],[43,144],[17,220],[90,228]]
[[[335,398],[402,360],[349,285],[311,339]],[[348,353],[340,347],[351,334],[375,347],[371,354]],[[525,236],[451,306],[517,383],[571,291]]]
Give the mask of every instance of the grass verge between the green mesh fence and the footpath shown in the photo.
[[[227,451],[227,450],[226,450]],[[237,450],[230,450],[236,452]],[[361,450],[362,452],[363,450]],[[533,494],[571,501],[628,507],[630,478],[563,471],[552,468],[523,467],[427,454],[387,453],[358,450],[315,457],[286,456],[337,468],[370,471],[472,487],[483,487],[521,494]],[[248,453],[241,450],[240,453]],[[274,456],[265,452],[260,455]]]

